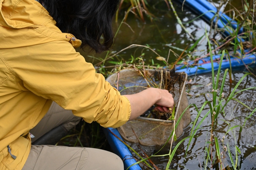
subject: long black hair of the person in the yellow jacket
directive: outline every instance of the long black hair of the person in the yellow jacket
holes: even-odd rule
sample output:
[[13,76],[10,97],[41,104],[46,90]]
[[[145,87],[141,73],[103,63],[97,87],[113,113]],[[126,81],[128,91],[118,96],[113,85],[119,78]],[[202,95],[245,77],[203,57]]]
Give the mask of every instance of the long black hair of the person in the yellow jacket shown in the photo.
[[112,18],[119,0],[39,0],[62,32],[82,40],[97,53],[109,50],[114,42]]

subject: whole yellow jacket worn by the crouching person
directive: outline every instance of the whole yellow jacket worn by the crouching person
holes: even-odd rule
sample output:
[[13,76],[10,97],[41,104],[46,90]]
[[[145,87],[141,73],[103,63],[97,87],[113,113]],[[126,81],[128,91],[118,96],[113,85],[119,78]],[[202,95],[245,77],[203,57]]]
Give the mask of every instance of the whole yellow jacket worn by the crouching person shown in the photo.
[[0,0],[0,170],[22,169],[28,132],[52,101],[103,127],[128,121],[128,99],[75,51],[80,45],[37,1]]

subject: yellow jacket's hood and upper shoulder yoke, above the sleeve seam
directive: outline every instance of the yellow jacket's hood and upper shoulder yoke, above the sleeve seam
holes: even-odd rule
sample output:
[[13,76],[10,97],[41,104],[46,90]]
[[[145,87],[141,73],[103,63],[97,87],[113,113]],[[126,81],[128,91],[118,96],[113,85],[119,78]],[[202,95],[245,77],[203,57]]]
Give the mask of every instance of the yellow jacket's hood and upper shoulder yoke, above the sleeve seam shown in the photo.
[[55,40],[70,42],[75,48],[81,45],[80,40],[62,33],[55,24],[48,11],[35,0],[0,0],[0,49]]

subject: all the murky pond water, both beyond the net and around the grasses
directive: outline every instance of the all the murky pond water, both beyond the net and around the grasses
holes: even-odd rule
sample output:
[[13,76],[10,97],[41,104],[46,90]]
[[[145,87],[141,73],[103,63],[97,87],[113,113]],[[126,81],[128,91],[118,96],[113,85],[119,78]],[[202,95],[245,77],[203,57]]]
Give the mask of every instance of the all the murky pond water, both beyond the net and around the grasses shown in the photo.
[[[141,22],[138,18],[134,17],[132,14],[129,14],[129,17],[126,21],[127,24],[121,26],[120,31],[117,34],[116,43],[113,46],[113,52],[124,49],[125,47],[131,44],[139,45],[149,45],[152,49],[156,50],[161,56],[166,57],[169,53],[169,49],[172,49],[174,52],[180,54],[182,49],[185,49],[187,46],[190,47],[193,44],[192,39],[181,29],[180,25],[177,24],[176,18],[172,12],[168,10],[164,1],[149,1],[151,8],[150,11],[154,12],[154,15],[157,19],[154,19],[153,22],[149,18],[146,18],[146,22]],[[231,1],[232,5],[236,8],[241,9],[241,1]],[[219,1],[214,0],[212,4],[218,6]],[[180,4],[174,4],[174,7],[177,10],[178,16],[183,23],[191,21],[196,17],[188,9],[181,11]],[[230,6],[227,5],[226,10],[230,9]],[[114,29],[117,30],[120,20],[123,18],[122,13],[120,13],[119,20],[117,23],[114,23]],[[185,24],[185,27],[191,32],[193,36],[199,38],[205,33],[205,29],[209,30],[209,26],[200,19],[193,21],[192,23]],[[198,46],[197,50],[193,56],[204,55],[206,54],[206,40],[203,40],[202,43]],[[177,49],[177,47],[180,49]],[[131,55],[138,57],[140,54],[146,52],[145,61],[151,63],[152,59],[156,61],[155,54],[150,53],[150,51],[144,50],[141,48],[135,50],[130,49],[126,50],[124,53],[118,55],[117,58],[114,58],[115,61],[126,61],[131,57]],[[94,55],[94,54],[93,54]],[[95,55],[95,57],[105,57],[105,53],[101,55]],[[90,57],[86,58],[87,60],[97,63],[95,60]],[[171,53],[169,62],[174,62],[176,57]],[[227,76],[224,94],[228,96],[238,82],[240,78],[244,75],[240,72],[234,72],[232,74],[232,84],[229,84],[229,76]],[[223,74],[221,74],[223,75]],[[207,93],[210,93],[212,90],[211,85],[211,75],[200,75],[197,77],[191,77],[192,82],[187,85],[187,92],[189,104],[196,104],[198,108],[202,106],[204,101],[211,100],[207,97]],[[222,80],[222,78],[220,78]],[[254,87],[256,86],[256,79],[253,76],[247,76],[241,85],[238,87],[238,90]],[[256,107],[256,90],[249,90],[238,94],[236,97],[237,100],[241,103],[247,105],[249,108],[254,109]],[[210,94],[211,97],[211,94]],[[202,117],[207,113],[209,107],[206,106],[202,112],[202,115],[199,117],[199,122],[202,120]],[[191,120],[195,120],[197,112],[195,108],[191,108]],[[222,136],[225,135],[226,131],[233,127],[234,125],[243,125],[245,122],[246,115],[251,113],[251,110],[244,107],[237,101],[231,100],[227,107],[224,110],[225,113],[219,114],[217,122],[214,125],[214,136],[219,139],[219,144]],[[235,145],[240,149],[241,154],[238,154],[238,166],[239,169],[249,170],[256,169],[256,123],[255,123],[255,114],[245,122],[243,128],[235,128],[233,132],[229,132],[225,137],[224,144],[227,143],[230,146],[232,159],[235,160]],[[198,124],[198,123],[197,123]],[[196,125],[197,125],[196,124]],[[174,143],[177,144],[180,140],[187,137],[191,133],[192,124],[184,129],[184,134],[177,139]],[[171,163],[170,169],[185,169],[185,170],[201,170],[201,169],[219,169],[219,164],[208,163],[206,167],[205,164],[205,147],[208,147],[208,142],[210,139],[211,131],[211,117],[208,116],[200,126],[200,129],[197,131],[195,138],[192,140],[192,143],[188,146],[188,139],[185,140],[177,149],[176,154]],[[127,142],[129,143],[129,142]],[[129,143],[133,149],[140,152],[141,155],[144,153],[141,151],[141,148],[147,155],[152,155],[159,151],[160,146],[139,146],[135,143]],[[187,156],[185,157],[185,150],[188,147]],[[166,146],[157,155],[164,155],[169,152],[170,146]],[[222,151],[222,146],[221,146]],[[212,157],[215,160],[215,148],[212,152]],[[135,156],[135,154],[134,154]],[[135,156],[136,157],[136,156]],[[230,158],[225,154],[224,166],[226,169],[231,166]],[[151,160],[159,169],[165,169],[168,162],[168,157],[153,157]],[[213,165],[213,166],[212,166]],[[143,169],[147,169],[146,166],[140,164]],[[238,167],[237,167],[238,169]]]

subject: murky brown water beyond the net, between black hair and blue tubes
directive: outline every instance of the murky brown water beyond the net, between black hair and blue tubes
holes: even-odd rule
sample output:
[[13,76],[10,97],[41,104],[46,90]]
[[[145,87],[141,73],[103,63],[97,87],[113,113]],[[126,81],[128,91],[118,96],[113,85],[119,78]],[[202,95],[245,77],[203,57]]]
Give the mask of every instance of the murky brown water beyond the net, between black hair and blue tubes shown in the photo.
[[[128,47],[131,44],[138,45],[148,45],[154,49],[159,55],[167,59],[169,49],[172,49],[177,54],[180,54],[186,47],[191,47],[194,43],[193,40],[182,30],[181,26],[177,24],[177,19],[174,16],[173,12],[170,11],[163,0],[150,0],[148,1],[149,6],[148,10],[153,13],[155,18],[151,21],[149,17],[144,14],[145,22],[142,22],[138,17],[129,13],[127,20],[120,27],[118,31],[115,44],[112,47],[112,53],[120,51],[125,47]],[[125,6],[125,5],[124,5]],[[203,20],[196,19],[192,23],[187,22],[196,18],[196,15],[191,13],[188,9],[184,8],[184,11],[181,11],[181,5],[174,3],[174,8],[177,10],[177,14],[180,17],[181,21],[184,23],[184,26],[189,32],[195,37],[195,39],[200,38],[205,34],[205,29],[209,30],[210,27]],[[127,10],[127,8],[125,8]],[[125,10],[121,10],[118,15],[118,22],[113,22],[113,30],[116,32],[117,28],[120,26],[121,20],[124,18]],[[206,40],[198,46],[197,52],[194,55],[204,54],[206,50]],[[179,50],[177,50],[179,48]],[[145,53],[144,56],[145,62],[152,64],[152,59],[154,63],[163,63],[157,61],[155,58],[157,55],[152,53],[150,50],[143,50],[143,48],[133,48],[125,50],[123,53],[114,58],[114,61],[127,61],[131,58],[131,55],[134,57],[140,56],[142,53]],[[106,53],[94,54],[86,53],[82,50],[79,52],[86,58],[86,61],[97,64],[99,61],[92,57],[96,58],[105,58]],[[173,53],[170,53],[169,63],[172,63],[177,58],[174,57]],[[108,61],[105,63],[108,64]],[[112,64],[113,65],[113,64]]]

